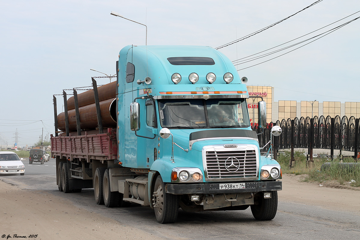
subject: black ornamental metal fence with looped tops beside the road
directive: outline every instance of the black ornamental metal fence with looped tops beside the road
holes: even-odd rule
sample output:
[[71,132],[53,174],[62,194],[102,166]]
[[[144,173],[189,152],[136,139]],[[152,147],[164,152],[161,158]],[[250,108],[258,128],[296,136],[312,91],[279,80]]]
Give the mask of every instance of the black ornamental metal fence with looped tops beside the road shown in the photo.
[[[260,146],[264,146],[271,137],[271,127],[274,125],[282,128],[282,134],[274,137],[274,150],[307,148],[312,156],[312,149],[330,149],[333,157],[333,150],[352,151],[354,158],[358,157],[360,151],[360,118],[343,116],[334,118],[327,116],[315,116],[314,118],[301,117],[300,119],[282,119],[275,123],[267,123],[264,133],[258,135]],[[261,132],[258,126],[253,130]],[[268,150],[266,146],[264,150]],[[291,165],[291,164],[290,164]]]

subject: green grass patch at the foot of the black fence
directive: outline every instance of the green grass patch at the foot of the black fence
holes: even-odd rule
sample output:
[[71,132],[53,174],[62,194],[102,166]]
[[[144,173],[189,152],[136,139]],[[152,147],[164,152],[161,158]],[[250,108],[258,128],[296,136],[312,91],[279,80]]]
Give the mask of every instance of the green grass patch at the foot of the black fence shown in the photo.
[[[339,160],[334,159],[333,164],[324,171],[320,171],[321,165],[325,162],[331,162],[331,159],[327,158],[314,158],[314,163],[310,163],[310,166],[306,166],[306,156],[303,153],[295,152],[293,167],[289,168],[290,152],[278,157],[278,162],[282,168],[283,173],[290,173],[295,175],[306,174],[307,176],[303,181],[306,182],[318,182],[323,183],[325,181],[336,180],[341,185],[349,185],[353,187],[360,187],[360,166],[353,168],[344,168],[339,166]],[[355,162],[354,158],[344,158],[344,163]],[[355,182],[348,184],[351,180]]]

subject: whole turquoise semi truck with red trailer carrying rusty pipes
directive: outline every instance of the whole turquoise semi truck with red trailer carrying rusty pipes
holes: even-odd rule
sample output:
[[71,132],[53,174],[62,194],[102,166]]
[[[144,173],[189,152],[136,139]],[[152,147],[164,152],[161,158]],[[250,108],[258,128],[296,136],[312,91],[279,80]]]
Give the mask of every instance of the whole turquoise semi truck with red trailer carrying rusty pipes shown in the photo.
[[[96,203],[149,206],[160,223],[175,222],[179,208],[250,207],[258,220],[275,217],[281,168],[260,155],[247,78],[224,54],[207,46],[129,45],[116,70],[116,82],[97,87],[93,79],[93,90],[74,90],[68,100],[64,92],[59,115],[54,97],[51,155],[60,191],[93,187]],[[264,101],[258,113],[265,128]]]

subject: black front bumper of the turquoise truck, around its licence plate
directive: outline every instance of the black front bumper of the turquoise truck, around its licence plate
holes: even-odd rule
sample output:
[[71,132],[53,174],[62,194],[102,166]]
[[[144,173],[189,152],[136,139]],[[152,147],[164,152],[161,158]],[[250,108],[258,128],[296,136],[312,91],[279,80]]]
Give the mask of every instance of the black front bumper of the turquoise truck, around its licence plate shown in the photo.
[[[224,184],[222,182],[221,184]],[[233,183],[233,182],[229,182]],[[243,189],[219,189],[219,183],[166,184],[166,193],[171,194],[222,194],[222,193],[258,193],[262,191],[282,190],[282,181],[244,182]]]

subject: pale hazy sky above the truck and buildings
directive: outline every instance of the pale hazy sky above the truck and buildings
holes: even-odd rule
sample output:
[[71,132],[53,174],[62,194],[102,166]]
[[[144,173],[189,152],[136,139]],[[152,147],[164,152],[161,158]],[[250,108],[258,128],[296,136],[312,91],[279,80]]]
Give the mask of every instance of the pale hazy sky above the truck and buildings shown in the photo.
[[[18,146],[32,146],[41,135],[45,140],[55,131],[53,95],[60,113],[63,99],[57,94],[63,89],[90,86],[91,77],[105,76],[90,68],[115,74],[122,47],[145,45],[145,27],[110,15],[111,11],[147,25],[148,45],[217,48],[316,1],[0,0],[0,145],[14,144],[16,136]],[[248,85],[274,87],[274,101],[360,102],[360,19],[336,28],[360,17],[358,11],[358,0],[323,0],[219,50],[234,61],[320,28],[281,47],[335,28],[314,42],[235,67],[240,77],[248,78]],[[109,82],[108,78],[96,80]]]

